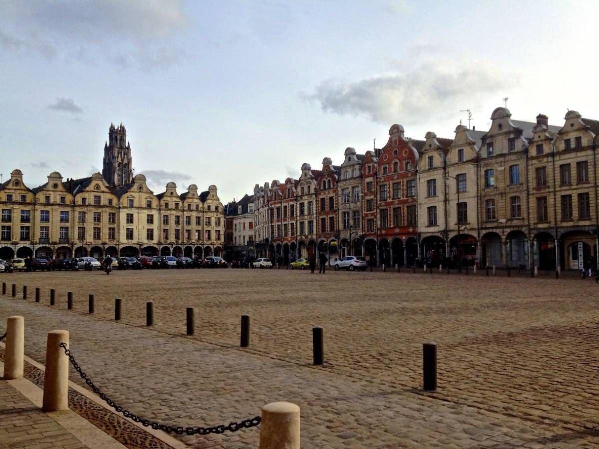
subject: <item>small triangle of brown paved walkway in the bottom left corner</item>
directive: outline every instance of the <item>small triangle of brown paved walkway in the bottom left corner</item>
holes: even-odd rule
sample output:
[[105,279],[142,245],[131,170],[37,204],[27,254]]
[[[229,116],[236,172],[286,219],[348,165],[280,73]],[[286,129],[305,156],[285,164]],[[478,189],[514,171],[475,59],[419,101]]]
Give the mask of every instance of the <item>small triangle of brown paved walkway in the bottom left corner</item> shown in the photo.
[[87,448],[7,381],[0,380],[0,449],[52,447]]

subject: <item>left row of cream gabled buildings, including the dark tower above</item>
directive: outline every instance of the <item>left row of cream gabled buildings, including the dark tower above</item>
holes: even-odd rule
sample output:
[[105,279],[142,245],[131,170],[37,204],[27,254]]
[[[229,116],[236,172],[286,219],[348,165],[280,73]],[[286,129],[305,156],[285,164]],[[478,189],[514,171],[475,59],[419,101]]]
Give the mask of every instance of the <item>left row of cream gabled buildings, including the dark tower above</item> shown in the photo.
[[102,173],[66,180],[52,172],[28,187],[19,169],[0,184],[0,259],[117,256],[219,256],[223,206],[216,186],[175,183],[155,194],[134,175],[122,124],[110,125]]

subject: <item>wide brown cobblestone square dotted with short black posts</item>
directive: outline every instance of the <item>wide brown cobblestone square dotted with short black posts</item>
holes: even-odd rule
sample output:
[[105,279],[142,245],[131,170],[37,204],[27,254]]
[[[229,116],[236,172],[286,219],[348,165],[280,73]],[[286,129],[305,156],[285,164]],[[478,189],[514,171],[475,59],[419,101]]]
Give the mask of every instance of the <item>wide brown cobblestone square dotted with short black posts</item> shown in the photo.
[[[599,288],[586,280],[395,272],[143,271],[14,274],[29,300],[0,297],[0,323],[26,317],[29,356],[71,331],[90,377],[132,411],[182,425],[228,423],[267,402],[302,408],[304,447],[595,447]],[[32,302],[43,286],[42,304]],[[49,307],[49,289],[57,302]],[[66,311],[74,292],[75,313]],[[96,316],[87,295],[96,296]],[[123,320],[114,322],[114,298]],[[147,329],[145,302],[154,302]],[[185,337],[185,308],[196,336]],[[241,314],[252,317],[237,348]],[[325,330],[322,368],[311,327]],[[0,324],[0,330],[2,324]],[[439,386],[419,390],[422,342],[438,344]],[[72,380],[81,383],[73,375]],[[253,447],[257,429],[184,437]]]

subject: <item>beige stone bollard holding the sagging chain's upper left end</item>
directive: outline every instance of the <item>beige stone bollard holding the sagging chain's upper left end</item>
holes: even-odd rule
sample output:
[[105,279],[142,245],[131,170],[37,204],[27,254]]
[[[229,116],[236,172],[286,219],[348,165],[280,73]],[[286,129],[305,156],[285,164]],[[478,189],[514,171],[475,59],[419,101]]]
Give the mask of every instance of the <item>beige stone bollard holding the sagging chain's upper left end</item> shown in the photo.
[[44,380],[43,411],[69,408],[69,358],[60,343],[69,345],[68,330],[48,332],[46,347],[46,378]]

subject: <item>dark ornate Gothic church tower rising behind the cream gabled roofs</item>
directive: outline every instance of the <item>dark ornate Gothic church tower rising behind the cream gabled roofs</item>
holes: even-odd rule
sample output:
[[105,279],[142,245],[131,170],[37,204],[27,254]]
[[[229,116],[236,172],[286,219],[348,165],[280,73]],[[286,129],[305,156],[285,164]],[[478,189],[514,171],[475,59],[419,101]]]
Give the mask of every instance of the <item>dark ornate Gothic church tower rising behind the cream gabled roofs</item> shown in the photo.
[[104,144],[104,168],[102,176],[111,186],[123,186],[131,183],[131,145],[127,142],[127,132],[121,123],[117,128],[110,123],[108,142]]

